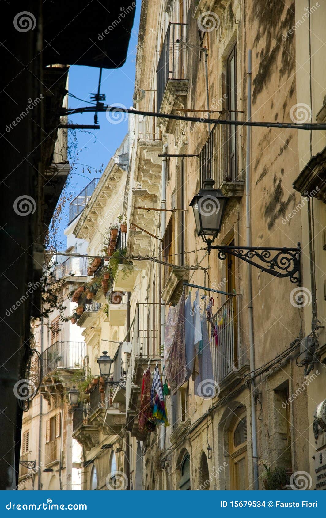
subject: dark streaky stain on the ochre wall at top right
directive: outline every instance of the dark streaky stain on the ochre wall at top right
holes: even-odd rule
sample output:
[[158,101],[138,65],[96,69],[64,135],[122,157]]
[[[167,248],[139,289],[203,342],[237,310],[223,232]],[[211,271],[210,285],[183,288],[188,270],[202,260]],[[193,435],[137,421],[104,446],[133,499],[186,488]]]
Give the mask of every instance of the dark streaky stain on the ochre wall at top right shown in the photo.
[[[282,15],[285,11],[285,16]],[[279,82],[294,69],[293,34],[284,41],[282,35],[287,33],[294,24],[295,4],[289,7],[282,0],[254,2],[250,23],[258,23],[257,33],[253,42],[256,47],[256,57],[259,55],[258,71],[253,79],[253,104],[256,104],[259,94],[272,79],[277,70],[280,55]],[[259,47],[261,47],[259,49]]]

